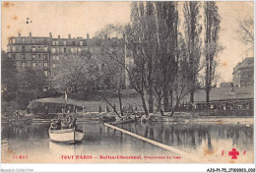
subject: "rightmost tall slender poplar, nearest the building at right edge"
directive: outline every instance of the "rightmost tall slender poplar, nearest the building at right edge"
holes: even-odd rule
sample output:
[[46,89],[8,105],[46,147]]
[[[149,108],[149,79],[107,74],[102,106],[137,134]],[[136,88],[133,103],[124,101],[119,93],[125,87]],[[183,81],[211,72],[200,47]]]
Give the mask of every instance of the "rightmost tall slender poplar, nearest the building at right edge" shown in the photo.
[[205,14],[205,59],[206,59],[206,74],[205,74],[205,90],[206,102],[209,103],[210,91],[212,88],[213,80],[215,79],[216,72],[216,57],[218,52],[221,51],[219,44],[219,31],[221,17],[219,15],[219,8],[216,2],[204,3]]

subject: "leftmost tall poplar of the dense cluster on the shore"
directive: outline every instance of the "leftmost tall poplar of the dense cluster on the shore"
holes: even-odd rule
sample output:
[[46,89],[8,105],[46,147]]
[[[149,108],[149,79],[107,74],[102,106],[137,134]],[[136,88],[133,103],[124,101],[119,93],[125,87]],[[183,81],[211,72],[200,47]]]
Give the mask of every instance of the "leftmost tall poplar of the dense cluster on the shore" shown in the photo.
[[141,79],[137,79],[141,82],[141,87],[137,85],[136,88],[140,90],[143,102],[145,102],[144,92],[147,92],[149,108],[145,111],[149,110],[152,113],[154,108],[154,61],[157,55],[154,3],[133,2],[131,11],[132,25],[130,32],[127,32],[129,33],[127,42],[128,49],[133,52],[132,56],[136,65],[133,68],[137,68],[133,69],[133,72],[141,74]]

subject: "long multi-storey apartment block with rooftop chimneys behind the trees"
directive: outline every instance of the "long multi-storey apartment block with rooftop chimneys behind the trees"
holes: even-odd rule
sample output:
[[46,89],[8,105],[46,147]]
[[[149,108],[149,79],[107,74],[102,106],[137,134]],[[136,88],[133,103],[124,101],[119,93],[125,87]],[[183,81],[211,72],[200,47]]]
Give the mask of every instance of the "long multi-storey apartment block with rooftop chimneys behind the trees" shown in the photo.
[[[117,55],[120,61],[125,64],[125,45],[123,38],[90,38],[87,34],[87,38],[83,37],[71,37],[69,34],[67,38],[52,37],[51,32],[49,36],[37,37],[32,36],[30,32],[29,36],[22,36],[20,33],[18,36],[10,37],[7,45],[7,56],[15,59],[18,71],[23,71],[25,67],[32,67],[35,70],[42,70],[44,76],[50,77],[51,71],[56,68],[56,65],[61,61],[61,55],[66,52],[79,53],[82,51],[90,51],[95,59],[99,59],[99,56],[104,56],[102,45],[114,45],[117,50]],[[109,61],[109,57],[106,56]],[[104,63],[100,60],[97,61],[98,69],[104,67]],[[124,68],[120,70],[121,74],[121,86],[128,84],[125,82]]]

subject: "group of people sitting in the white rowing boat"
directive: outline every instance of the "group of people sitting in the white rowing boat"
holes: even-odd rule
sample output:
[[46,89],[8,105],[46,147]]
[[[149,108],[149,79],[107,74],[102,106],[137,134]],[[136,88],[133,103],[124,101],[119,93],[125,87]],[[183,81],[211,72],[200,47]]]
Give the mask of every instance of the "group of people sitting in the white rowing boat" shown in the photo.
[[60,119],[51,120],[50,130],[63,130],[63,129],[77,129],[77,119],[68,116],[66,120],[61,121]]

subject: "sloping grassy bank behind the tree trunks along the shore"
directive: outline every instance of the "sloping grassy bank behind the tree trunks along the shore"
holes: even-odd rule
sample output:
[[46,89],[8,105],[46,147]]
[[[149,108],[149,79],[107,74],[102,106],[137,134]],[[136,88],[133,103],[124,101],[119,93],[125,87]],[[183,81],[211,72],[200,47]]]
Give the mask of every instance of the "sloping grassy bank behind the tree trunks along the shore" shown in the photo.
[[[210,94],[210,100],[253,98],[253,87],[237,87],[235,88],[235,92],[236,94],[229,94],[229,87],[213,87]],[[100,105],[102,111],[104,111],[105,107],[108,106],[108,104],[104,101],[102,96],[106,97],[109,102],[115,103],[117,110],[119,110],[118,97],[117,93],[114,92],[114,90],[104,90],[93,93],[80,92],[76,94],[70,94],[68,103],[77,106],[84,106],[89,112],[97,112]],[[195,101],[205,101],[205,90],[197,90],[194,97]],[[37,101],[65,104],[64,96],[42,98],[37,99]],[[189,101],[189,97],[185,97],[182,101]],[[133,106],[133,108],[137,106],[137,109],[139,111],[143,110],[140,96],[133,89],[122,90],[122,102],[123,105],[126,107],[128,107],[128,105],[130,104]]]

